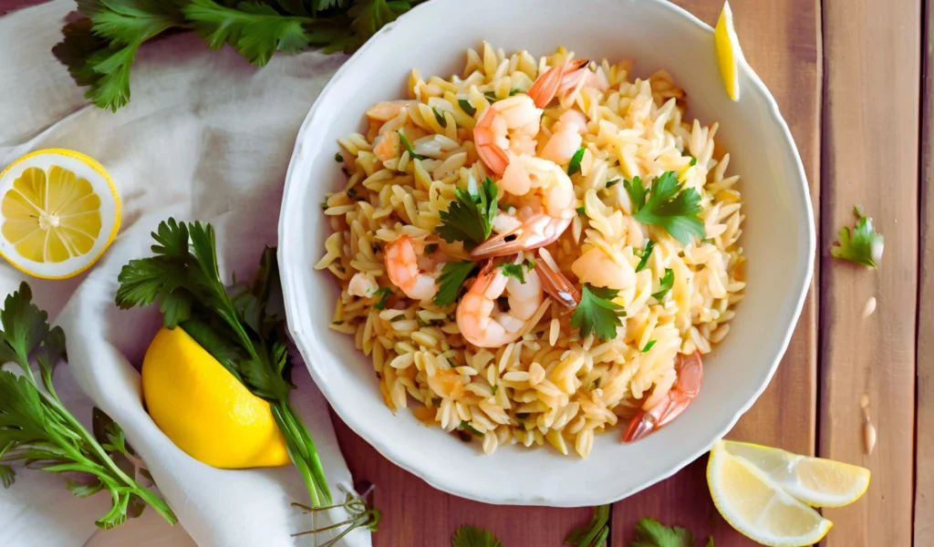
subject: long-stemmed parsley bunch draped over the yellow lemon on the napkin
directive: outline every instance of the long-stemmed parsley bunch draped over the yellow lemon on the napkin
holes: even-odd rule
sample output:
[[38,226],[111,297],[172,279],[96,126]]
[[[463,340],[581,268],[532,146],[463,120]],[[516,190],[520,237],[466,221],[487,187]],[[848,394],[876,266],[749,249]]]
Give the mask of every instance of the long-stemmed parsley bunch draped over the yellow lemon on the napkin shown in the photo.
[[253,395],[267,400],[312,505],[331,503],[315,442],[289,400],[295,386],[276,249],[262,253],[252,285],[225,287],[210,224],[169,218],[152,237],[155,256],[131,260],[120,271],[117,305],[159,302],[166,327],[185,330]]

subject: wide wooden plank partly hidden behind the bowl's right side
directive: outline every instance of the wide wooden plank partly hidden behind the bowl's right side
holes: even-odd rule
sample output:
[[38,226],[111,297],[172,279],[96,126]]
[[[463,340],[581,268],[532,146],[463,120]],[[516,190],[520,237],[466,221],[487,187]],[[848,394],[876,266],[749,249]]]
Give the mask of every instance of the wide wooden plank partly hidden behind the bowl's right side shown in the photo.
[[[720,0],[675,3],[712,25],[723,7]],[[769,87],[795,137],[816,217],[820,203],[820,6],[815,0],[731,0],[730,7],[746,60]],[[814,453],[817,275],[814,277],[781,366],[729,438]],[[644,516],[685,526],[699,538],[713,535],[717,547],[755,545],[716,512],[707,489],[706,462],[704,456],[671,479],[614,504],[613,546],[628,545],[633,526]]]

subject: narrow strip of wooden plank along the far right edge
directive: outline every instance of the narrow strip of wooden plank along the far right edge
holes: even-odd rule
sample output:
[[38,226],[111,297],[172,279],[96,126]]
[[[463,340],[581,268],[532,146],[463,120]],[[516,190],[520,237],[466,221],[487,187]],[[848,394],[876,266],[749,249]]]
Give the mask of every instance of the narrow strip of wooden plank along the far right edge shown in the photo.
[[917,406],[914,442],[914,545],[934,534],[934,10],[927,2],[921,117],[921,216],[918,253]]

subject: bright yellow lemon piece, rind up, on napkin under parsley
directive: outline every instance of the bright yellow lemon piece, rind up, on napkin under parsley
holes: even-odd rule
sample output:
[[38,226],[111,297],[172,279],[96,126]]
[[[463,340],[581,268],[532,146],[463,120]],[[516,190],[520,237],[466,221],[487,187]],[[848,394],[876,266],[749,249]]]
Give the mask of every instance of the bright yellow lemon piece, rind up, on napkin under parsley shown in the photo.
[[143,358],[142,375],[149,415],[189,456],[223,469],[290,462],[269,403],[181,328],[159,330]]

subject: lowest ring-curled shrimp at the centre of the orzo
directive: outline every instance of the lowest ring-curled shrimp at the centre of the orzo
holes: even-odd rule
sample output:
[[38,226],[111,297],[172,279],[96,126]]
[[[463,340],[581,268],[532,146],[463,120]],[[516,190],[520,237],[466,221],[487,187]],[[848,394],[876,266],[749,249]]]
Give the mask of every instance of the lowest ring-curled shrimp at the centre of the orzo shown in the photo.
[[[519,253],[513,263],[521,263],[522,258]],[[497,302],[503,293],[509,302],[508,311],[502,311]],[[455,317],[467,342],[478,347],[500,347],[517,340],[542,302],[545,295],[535,270],[527,272],[525,283],[521,283],[515,277],[506,277],[489,260],[460,300]]]

